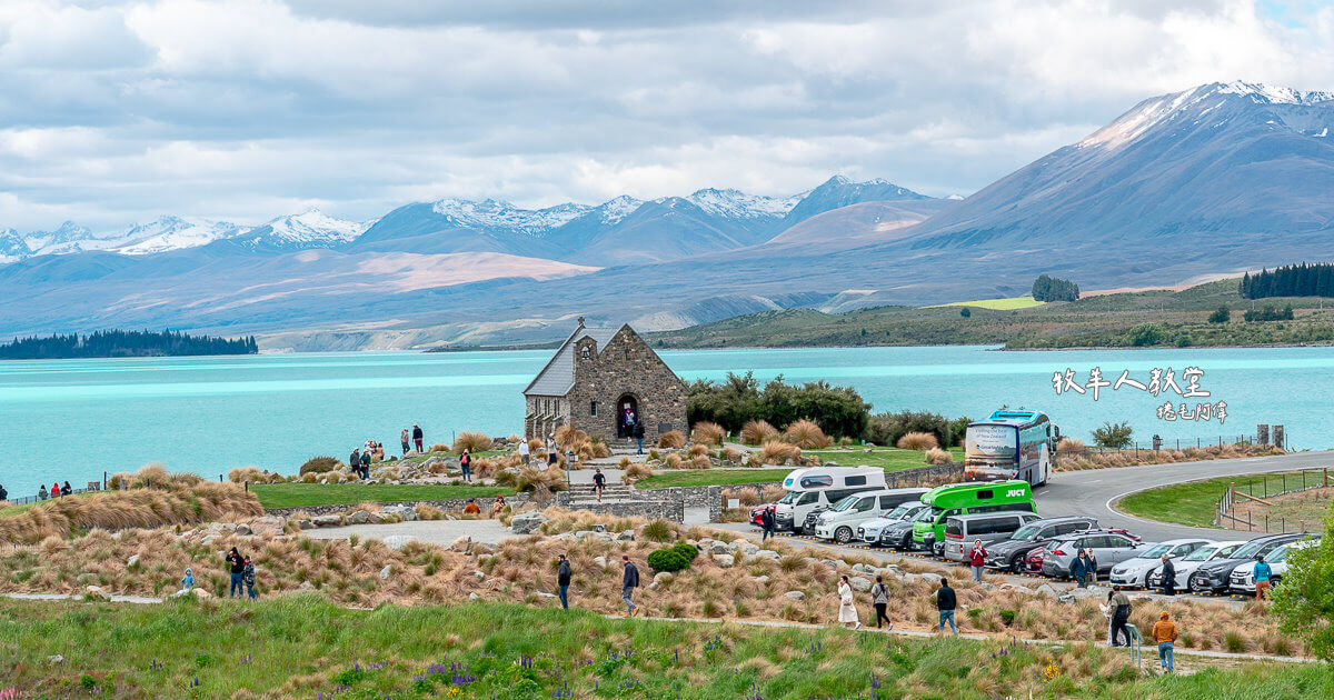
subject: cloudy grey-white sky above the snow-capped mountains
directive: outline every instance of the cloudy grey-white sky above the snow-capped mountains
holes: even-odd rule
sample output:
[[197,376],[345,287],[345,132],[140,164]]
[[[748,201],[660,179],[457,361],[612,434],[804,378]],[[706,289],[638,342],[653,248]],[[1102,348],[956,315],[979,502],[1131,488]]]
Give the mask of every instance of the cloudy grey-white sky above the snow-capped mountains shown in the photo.
[[0,228],[832,173],[966,195],[1143,97],[1234,79],[1334,89],[1334,8],[4,0]]

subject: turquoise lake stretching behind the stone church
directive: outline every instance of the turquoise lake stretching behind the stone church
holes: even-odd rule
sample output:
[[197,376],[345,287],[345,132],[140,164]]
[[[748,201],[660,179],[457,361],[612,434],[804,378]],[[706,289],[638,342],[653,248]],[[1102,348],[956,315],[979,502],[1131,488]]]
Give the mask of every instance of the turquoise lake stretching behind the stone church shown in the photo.
[[[11,496],[103,472],[159,461],[216,479],[233,467],[295,472],[308,457],[347,459],[374,437],[398,449],[403,427],[419,423],[427,443],[455,431],[520,432],[520,391],[551,351],[466,353],[319,353],[239,357],[33,360],[0,363],[0,484]],[[754,371],[760,380],[827,380],[852,385],[879,411],[934,411],[980,419],[1000,405],[1046,411],[1066,435],[1089,440],[1107,420],[1127,420],[1147,444],[1158,433],[1194,444],[1254,435],[1258,423],[1286,425],[1290,445],[1329,448],[1322,427],[1334,408],[1334,348],[996,352],[979,347],[802,348],[663,352],[687,381]],[[1146,385],[1058,395],[1053,373],[1089,383],[1123,371]],[[1203,371],[1207,399],[1151,396],[1154,368],[1173,368],[1185,392],[1187,367]],[[1226,403],[1223,424],[1169,421],[1167,400]]]

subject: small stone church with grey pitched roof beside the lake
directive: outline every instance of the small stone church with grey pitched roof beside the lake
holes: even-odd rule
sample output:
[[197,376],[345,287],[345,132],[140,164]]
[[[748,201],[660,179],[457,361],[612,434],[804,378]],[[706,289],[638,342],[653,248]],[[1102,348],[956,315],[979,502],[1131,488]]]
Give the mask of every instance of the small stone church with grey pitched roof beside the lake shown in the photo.
[[[630,325],[579,327],[523,389],[524,436],[544,439],[571,425],[608,440],[632,437],[632,424],[651,443],[687,429],[686,383]],[[628,411],[627,411],[628,409]],[[627,420],[630,419],[630,420]]]

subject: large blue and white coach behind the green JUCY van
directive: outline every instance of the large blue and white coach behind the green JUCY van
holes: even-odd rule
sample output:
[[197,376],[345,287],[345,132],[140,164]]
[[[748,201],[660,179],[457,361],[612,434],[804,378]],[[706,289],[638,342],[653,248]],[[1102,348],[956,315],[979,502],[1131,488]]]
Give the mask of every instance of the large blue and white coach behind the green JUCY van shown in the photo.
[[1041,411],[1006,411],[968,424],[963,439],[963,479],[1023,479],[1041,487],[1051,477],[1051,453],[1061,429]]

